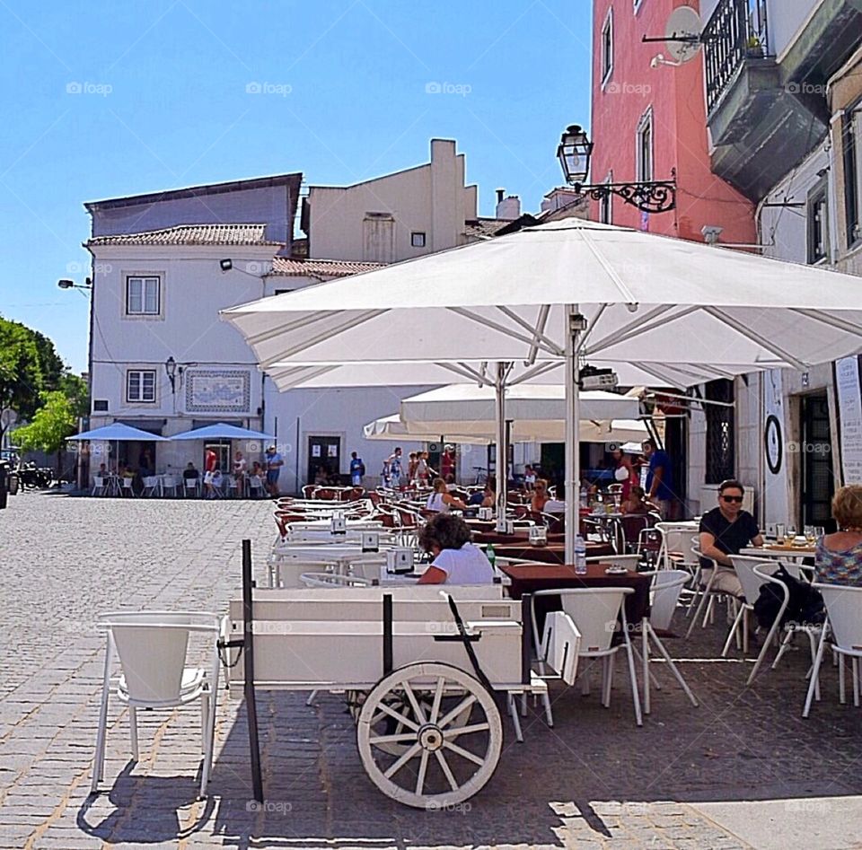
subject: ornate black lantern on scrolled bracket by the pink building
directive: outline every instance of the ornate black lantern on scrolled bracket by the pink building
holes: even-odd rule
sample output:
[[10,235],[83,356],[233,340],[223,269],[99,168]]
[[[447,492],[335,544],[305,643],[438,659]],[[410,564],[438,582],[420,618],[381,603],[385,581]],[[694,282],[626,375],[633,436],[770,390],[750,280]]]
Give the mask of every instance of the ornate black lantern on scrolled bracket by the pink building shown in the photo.
[[578,195],[601,201],[611,195],[621,197],[627,204],[643,213],[666,213],[676,206],[676,171],[672,180],[648,180],[641,183],[594,183],[584,185],[590,173],[590,157],[594,143],[582,127],[567,127],[559,140],[557,158],[569,185]]

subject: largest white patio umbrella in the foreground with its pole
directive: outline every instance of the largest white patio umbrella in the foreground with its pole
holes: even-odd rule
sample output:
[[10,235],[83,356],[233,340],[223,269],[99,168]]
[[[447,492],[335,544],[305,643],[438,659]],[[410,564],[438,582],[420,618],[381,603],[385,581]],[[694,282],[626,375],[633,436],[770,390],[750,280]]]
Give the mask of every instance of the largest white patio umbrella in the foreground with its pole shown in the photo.
[[[715,376],[855,354],[858,277],[577,219],[524,228],[224,311],[260,364],[561,361],[566,553],[580,367]],[[693,377],[690,386],[704,380]],[[655,381],[650,381],[655,383]]]

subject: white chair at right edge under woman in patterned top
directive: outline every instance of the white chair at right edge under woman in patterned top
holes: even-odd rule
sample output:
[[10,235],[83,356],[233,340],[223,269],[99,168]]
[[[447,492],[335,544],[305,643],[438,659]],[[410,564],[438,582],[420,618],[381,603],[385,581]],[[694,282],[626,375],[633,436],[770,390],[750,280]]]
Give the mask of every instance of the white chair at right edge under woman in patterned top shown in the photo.
[[859,659],[862,658],[862,587],[816,582],[812,584],[812,587],[822,593],[823,603],[826,606],[826,622],[823,624],[820,643],[817,644],[817,654],[814,656],[811,681],[808,683],[808,694],[805,697],[805,707],[802,711],[803,717],[807,717],[811,711],[811,701],[818,686],[820,666],[827,638],[831,640],[832,652],[838,653],[839,701],[841,705],[846,702],[844,656],[847,655],[850,658],[850,669],[853,676],[853,705],[859,705]]

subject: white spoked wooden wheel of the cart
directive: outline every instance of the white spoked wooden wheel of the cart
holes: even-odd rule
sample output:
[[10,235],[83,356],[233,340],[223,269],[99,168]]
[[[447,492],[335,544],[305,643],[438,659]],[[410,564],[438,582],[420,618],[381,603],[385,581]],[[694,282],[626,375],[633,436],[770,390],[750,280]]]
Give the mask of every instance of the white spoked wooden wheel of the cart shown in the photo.
[[418,809],[444,809],[491,778],[503,726],[494,697],[477,679],[449,664],[419,662],[374,686],[356,739],[365,772],[384,794]]

